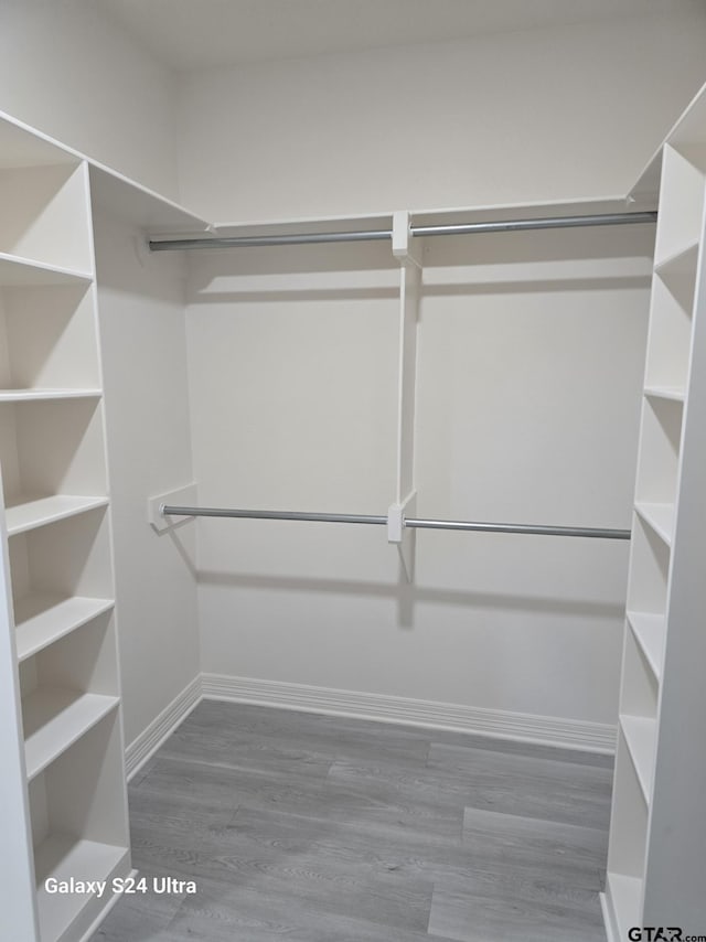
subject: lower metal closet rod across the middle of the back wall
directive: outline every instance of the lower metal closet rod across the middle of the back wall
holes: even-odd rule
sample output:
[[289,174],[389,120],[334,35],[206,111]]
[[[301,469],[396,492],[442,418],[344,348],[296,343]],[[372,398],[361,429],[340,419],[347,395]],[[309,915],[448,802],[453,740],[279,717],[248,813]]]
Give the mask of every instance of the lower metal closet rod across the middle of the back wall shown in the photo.
[[[314,523],[359,523],[387,526],[387,517],[374,514],[314,514],[299,511],[246,511],[233,507],[183,507],[162,504],[162,516],[244,517],[247,520],[295,520]],[[538,536],[581,536],[593,539],[630,539],[629,529],[592,526],[545,526],[524,523],[480,523],[458,520],[419,520],[409,517],[405,526],[417,529],[466,529],[483,533],[525,533]]]

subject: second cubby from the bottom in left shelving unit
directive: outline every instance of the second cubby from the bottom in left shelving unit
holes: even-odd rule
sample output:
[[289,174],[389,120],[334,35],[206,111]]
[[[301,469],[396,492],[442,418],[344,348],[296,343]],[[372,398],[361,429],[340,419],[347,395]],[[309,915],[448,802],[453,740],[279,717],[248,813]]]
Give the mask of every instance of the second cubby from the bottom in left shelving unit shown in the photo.
[[99,615],[24,660],[20,683],[32,779],[118,705],[111,614]]

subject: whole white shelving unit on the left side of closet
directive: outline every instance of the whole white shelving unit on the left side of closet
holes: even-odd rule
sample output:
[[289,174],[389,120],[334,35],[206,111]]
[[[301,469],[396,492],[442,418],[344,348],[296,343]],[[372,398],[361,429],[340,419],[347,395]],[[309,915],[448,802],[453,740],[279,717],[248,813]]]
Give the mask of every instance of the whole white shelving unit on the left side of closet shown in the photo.
[[0,467],[3,938],[76,940],[111,893],[47,877],[131,869],[88,167],[7,121]]

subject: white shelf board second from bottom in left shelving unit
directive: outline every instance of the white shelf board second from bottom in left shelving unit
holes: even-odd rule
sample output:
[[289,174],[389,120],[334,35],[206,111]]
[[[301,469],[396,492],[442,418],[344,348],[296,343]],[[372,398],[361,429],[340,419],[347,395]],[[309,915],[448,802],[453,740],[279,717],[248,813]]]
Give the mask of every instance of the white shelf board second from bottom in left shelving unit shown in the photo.
[[22,700],[28,779],[33,779],[119,703],[118,697],[40,687]]

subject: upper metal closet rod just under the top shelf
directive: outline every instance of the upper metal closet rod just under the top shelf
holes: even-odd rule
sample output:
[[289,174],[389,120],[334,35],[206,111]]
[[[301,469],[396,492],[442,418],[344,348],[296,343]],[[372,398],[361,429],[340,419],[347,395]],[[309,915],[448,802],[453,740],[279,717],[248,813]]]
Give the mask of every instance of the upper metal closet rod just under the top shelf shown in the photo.
[[[525,229],[563,229],[586,226],[622,226],[655,223],[656,211],[639,213],[599,213],[588,216],[548,216],[534,220],[496,220],[485,223],[450,223],[438,226],[410,226],[413,236],[473,235],[480,233],[524,232]],[[192,248],[247,248],[268,245],[314,245],[329,242],[375,242],[392,238],[392,229],[364,232],[297,233],[290,235],[215,236],[208,238],[150,239],[152,251],[173,251]]]

